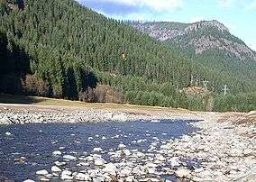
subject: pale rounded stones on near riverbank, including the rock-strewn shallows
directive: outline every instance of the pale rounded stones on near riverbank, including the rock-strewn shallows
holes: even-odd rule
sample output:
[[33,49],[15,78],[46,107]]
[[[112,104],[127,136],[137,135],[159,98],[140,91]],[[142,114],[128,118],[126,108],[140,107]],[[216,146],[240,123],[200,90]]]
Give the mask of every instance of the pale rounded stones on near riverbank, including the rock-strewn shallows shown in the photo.
[[[246,115],[255,119],[252,113],[241,117]],[[222,121],[224,116],[229,118],[225,122]],[[51,168],[41,168],[36,174],[44,181],[60,178],[73,181],[254,182],[255,120],[237,124],[233,123],[232,114],[208,114],[207,117],[205,121],[192,123],[199,129],[192,135],[169,141],[154,138],[144,151],[128,150],[123,144],[112,150],[95,148],[83,155],[55,150],[52,156],[57,155],[59,159]]]

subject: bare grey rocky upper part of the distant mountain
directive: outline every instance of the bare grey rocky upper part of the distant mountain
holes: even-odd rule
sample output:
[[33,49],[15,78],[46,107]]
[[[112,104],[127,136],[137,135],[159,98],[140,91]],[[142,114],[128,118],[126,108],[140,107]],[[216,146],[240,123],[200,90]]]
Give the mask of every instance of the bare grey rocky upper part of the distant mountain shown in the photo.
[[219,49],[239,59],[256,61],[256,52],[231,34],[223,23],[216,20],[197,23],[146,22],[132,23],[132,25],[159,41],[177,43],[178,46],[185,48],[192,46],[196,54],[205,50]]

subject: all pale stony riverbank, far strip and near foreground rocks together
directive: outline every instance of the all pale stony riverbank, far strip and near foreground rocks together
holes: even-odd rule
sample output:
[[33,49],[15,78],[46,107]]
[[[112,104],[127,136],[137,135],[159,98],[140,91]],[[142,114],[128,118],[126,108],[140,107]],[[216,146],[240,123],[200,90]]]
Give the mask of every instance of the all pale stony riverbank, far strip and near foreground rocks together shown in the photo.
[[58,156],[52,167],[41,168],[36,175],[41,181],[256,181],[255,112],[140,114],[96,109],[6,107],[1,108],[0,118],[2,123],[3,118],[10,120],[7,123],[97,123],[141,119],[158,122],[178,117],[204,120],[190,123],[198,128],[191,135],[174,140],[154,137],[148,150],[128,150],[120,144],[117,149],[95,148],[78,154],[59,148],[52,152],[52,158]]

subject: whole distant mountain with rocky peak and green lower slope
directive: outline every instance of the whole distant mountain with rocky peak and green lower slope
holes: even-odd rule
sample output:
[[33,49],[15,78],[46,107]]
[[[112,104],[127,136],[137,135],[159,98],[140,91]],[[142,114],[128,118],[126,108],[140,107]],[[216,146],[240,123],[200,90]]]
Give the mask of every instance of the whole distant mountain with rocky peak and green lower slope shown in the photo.
[[207,68],[256,85],[256,52],[216,20],[197,23],[131,23],[139,31],[178,49]]

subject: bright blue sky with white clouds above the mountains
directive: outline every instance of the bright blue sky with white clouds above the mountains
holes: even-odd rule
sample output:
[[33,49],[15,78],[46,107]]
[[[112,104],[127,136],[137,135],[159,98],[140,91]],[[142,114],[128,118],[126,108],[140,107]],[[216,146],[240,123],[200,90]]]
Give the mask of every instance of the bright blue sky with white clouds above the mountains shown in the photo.
[[217,20],[256,50],[256,0],[77,0],[118,20],[194,23]]

